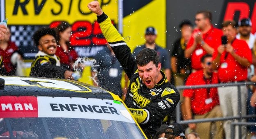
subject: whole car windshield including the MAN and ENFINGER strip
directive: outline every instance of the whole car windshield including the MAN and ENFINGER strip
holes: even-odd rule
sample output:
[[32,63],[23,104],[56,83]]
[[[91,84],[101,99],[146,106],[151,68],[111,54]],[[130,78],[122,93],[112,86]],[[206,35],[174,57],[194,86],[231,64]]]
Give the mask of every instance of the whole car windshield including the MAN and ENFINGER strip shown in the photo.
[[0,96],[0,139],[141,139],[121,101]]

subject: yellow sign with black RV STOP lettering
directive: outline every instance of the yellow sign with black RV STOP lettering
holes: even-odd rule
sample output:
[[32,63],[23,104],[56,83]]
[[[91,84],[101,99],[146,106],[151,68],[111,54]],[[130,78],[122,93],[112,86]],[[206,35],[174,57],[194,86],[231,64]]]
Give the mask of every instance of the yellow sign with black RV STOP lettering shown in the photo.
[[[5,0],[9,25],[48,25],[53,21],[79,20],[93,23],[94,13],[87,8],[92,0]],[[118,0],[98,0],[103,11],[117,23]]]

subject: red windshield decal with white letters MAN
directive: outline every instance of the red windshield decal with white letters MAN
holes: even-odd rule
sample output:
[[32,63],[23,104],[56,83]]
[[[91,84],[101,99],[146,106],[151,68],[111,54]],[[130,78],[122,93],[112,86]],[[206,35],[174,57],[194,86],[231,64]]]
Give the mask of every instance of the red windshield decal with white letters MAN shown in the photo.
[[0,96],[0,117],[38,117],[35,96]]

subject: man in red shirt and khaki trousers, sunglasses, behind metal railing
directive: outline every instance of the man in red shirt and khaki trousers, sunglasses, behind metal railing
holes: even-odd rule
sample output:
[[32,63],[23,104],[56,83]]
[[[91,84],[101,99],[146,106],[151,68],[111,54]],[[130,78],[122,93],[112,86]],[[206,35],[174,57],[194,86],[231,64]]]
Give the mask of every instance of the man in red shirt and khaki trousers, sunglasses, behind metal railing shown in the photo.
[[[219,83],[218,75],[212,69],[213,58],[210,54],[206,54],[201,59],[202,70],[198,70],[190,74],[186,81],[186,86],[190,85],[208,85]],[[219,97],[217,88],[198,88],[186,89],[184,96],[184,119],[204,119],[222,117],[222,111],[219,105]],[[193,117],[194,115],[194,117]],[[213,139],[223,139],[222,121],[190,123],[188,127],[195,129],[202,139],[210,139],[211,126],[215,124],[216,132]]]

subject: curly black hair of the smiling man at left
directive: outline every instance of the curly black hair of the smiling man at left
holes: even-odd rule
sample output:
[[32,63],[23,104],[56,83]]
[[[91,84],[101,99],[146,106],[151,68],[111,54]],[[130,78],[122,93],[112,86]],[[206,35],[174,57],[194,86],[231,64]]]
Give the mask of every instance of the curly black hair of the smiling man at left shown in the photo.
[[40,38],[47,34],[52,35],[56,40],[56,32],[54,31],[54,29],[51,29],[49,27],[43,27],[41,29],[38,29],[32,36],[32,39],[34,40],[35,45],[38,46]]

